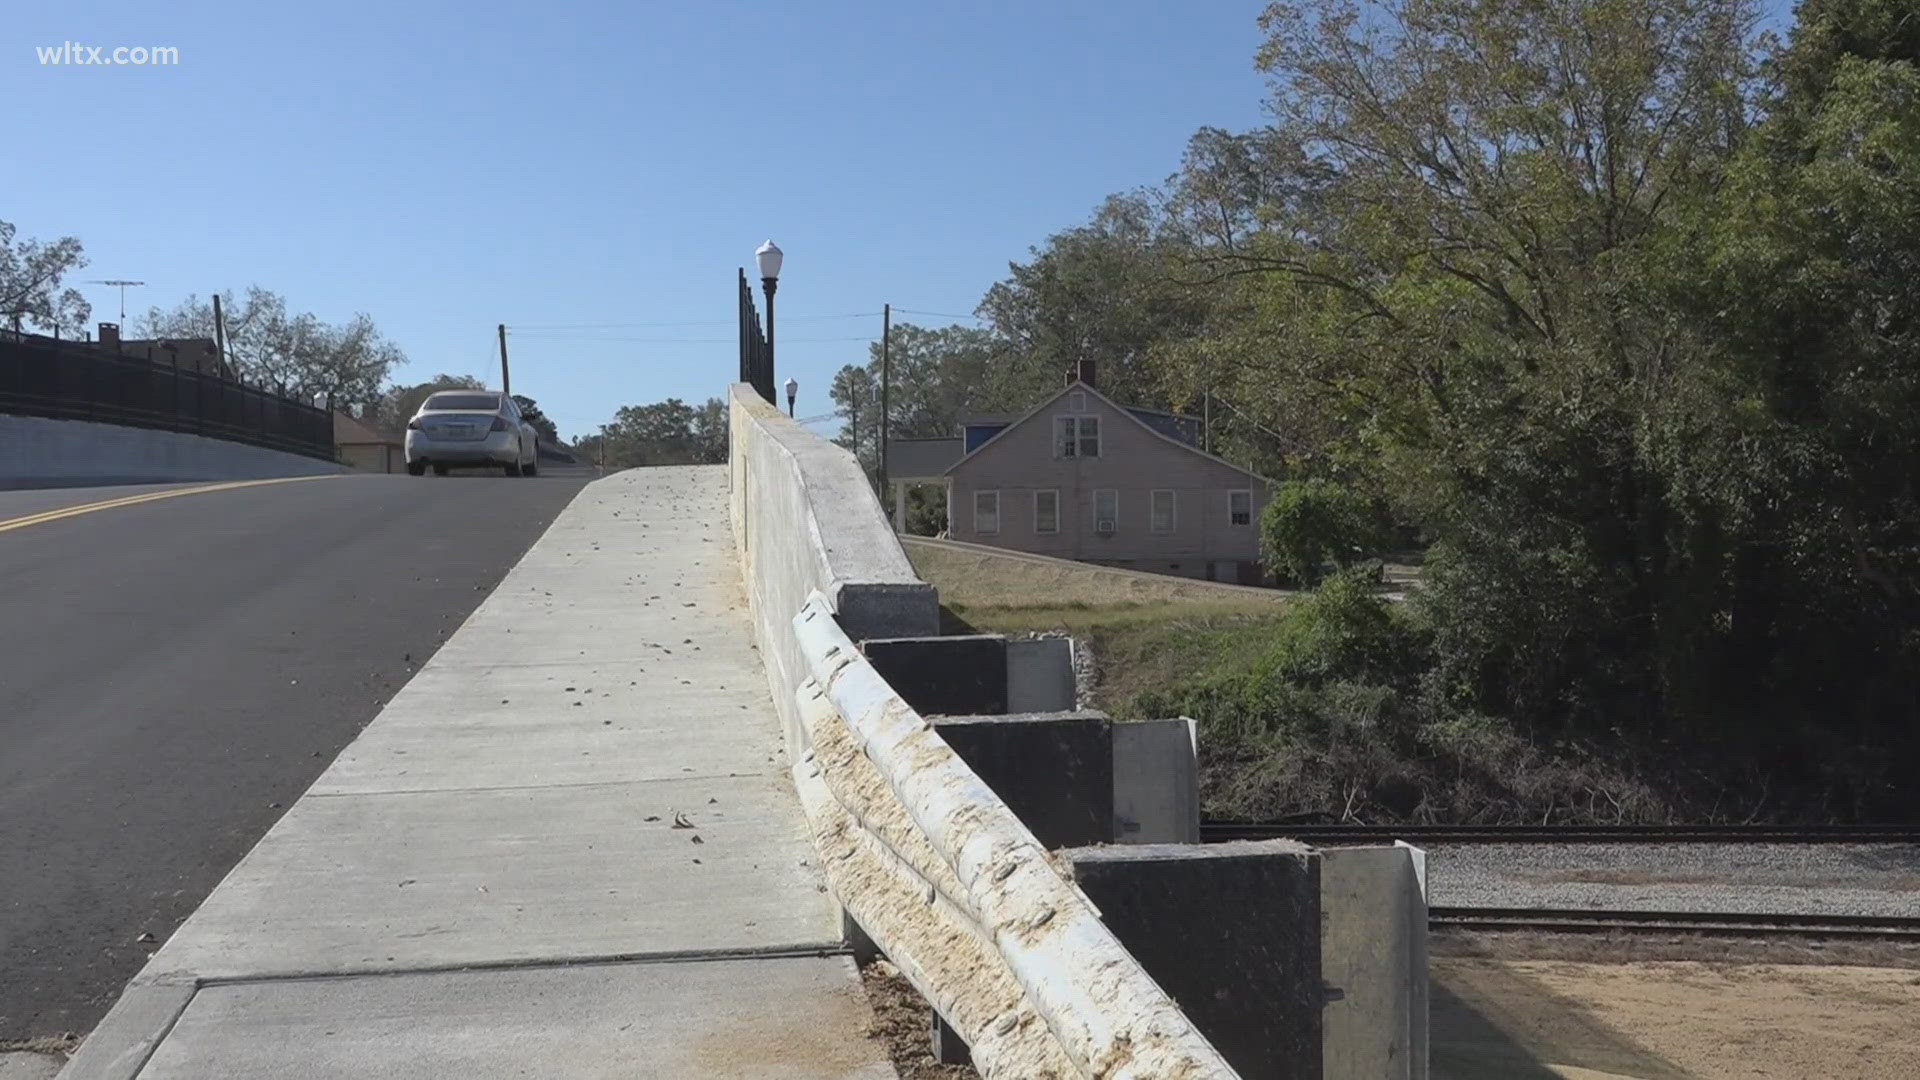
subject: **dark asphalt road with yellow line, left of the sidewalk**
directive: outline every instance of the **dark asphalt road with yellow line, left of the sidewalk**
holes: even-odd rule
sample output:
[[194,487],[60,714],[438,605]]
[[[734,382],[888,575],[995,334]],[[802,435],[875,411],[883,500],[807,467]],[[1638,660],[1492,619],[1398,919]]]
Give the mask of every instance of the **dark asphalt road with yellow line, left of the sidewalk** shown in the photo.
[[0,1042],[86,1032],[586,477],[0,492]]

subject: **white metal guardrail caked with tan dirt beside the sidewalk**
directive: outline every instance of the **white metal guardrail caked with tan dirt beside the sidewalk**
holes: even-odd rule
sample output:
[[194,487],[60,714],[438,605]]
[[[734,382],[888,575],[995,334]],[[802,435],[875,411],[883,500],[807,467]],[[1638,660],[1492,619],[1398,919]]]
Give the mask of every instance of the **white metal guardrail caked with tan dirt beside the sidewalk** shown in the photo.
[[824,596],[793,634],[810,675],[793,776],[833,892],[985,1076],[1236,1076]]

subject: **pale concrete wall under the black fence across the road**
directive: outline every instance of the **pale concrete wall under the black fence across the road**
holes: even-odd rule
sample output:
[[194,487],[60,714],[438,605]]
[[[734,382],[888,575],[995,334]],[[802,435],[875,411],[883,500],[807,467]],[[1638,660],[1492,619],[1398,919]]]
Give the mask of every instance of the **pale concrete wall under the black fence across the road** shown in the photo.
[[204,434],[0,415],[0,488],[263,480],[346,465]]

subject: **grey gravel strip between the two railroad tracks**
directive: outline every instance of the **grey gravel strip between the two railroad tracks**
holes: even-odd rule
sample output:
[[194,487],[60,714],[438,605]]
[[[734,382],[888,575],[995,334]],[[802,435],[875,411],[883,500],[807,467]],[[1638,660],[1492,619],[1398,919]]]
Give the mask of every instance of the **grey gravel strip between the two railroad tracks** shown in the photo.
[[1920,917],[1916,844],[1436,844],[1434,907]]

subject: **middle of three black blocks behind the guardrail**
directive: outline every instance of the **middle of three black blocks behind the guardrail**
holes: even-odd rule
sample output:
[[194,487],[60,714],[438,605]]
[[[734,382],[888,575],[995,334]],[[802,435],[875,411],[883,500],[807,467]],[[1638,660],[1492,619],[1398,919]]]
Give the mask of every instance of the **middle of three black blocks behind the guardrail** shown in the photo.
[[943,717],[933,730],[1048,847],[1114,842],[1106,713]]

